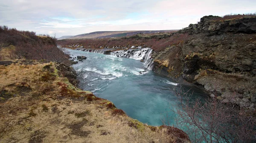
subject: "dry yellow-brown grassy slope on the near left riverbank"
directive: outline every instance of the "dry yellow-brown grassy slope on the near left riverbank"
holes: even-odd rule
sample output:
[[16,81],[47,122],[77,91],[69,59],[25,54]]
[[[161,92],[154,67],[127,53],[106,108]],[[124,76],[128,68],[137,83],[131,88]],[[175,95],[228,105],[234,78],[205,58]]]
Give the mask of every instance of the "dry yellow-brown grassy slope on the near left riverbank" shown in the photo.
[[175,132],[180,135],[140,123],[74,87],[57,66],[0,65],[0,143],[166,143],[177,140]]

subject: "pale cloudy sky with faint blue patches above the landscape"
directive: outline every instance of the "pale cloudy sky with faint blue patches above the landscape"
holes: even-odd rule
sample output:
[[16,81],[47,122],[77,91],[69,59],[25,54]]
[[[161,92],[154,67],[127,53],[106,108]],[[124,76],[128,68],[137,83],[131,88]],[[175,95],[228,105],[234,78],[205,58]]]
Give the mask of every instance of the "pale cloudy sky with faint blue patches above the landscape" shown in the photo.
[[171,30],[206,15],[256,12],[256,0],[0,0],[0,25],[56,37]]

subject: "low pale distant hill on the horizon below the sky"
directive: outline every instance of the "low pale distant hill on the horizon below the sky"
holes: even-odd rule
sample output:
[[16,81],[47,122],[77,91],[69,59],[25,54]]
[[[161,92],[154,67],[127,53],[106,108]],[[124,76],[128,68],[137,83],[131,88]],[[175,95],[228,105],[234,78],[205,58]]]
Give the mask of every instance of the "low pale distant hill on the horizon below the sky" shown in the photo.
[[176,30],[157,30],[157,31],[96,31],[87,34],[79,34],[76,36],[61,36],[58,40],[61,39],[93,39],[93,38],[111,38],[111,37],[123,37],[123,36],[132,36],[136,34],[153,34],[153,33],[163,33],[163,32],[172,32]]

